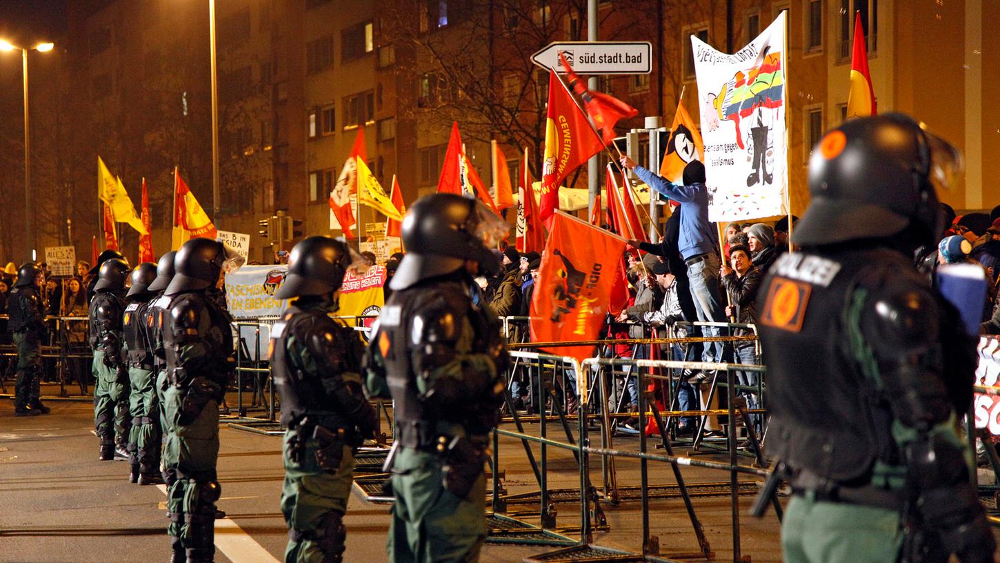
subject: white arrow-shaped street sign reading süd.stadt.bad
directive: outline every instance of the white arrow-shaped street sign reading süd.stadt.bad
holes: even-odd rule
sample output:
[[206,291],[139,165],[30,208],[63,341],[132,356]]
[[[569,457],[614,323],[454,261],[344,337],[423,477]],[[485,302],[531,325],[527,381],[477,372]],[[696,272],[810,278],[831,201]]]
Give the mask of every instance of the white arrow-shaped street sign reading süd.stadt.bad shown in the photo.
[[649,41],[559,41],[531,55],[531,62],[566,72],[559,53],[578,74],[649,74],[653,71],[653,44]]

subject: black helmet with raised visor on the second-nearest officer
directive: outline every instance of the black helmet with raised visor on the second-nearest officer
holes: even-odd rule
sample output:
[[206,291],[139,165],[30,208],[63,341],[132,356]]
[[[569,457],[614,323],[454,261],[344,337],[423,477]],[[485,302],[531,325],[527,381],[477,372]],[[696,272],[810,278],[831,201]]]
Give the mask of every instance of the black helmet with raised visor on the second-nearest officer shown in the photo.
[[494,275],[500,271],[500,260],[490,248],[508,231],[507,223],[479,200],[456,194],[420,198],[403,219],[406,256],[389,287],[398,291],[450,274],[466,260],[478,260],[483,273]]

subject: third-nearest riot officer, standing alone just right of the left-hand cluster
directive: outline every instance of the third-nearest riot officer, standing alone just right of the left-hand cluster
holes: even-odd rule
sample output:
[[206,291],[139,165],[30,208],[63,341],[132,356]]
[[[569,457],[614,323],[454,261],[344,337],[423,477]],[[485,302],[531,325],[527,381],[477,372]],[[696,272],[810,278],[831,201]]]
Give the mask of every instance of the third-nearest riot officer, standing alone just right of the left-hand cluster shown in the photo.
[[358,333],[328,315],[339,308],[347,245],[324,236],[295,245],[276,299],[291,306],[271,327],[271,373],[281,396],[288,524],[286,563],[343,560],[344,512],[354,479],[354,451],[378,426],[361,382]]

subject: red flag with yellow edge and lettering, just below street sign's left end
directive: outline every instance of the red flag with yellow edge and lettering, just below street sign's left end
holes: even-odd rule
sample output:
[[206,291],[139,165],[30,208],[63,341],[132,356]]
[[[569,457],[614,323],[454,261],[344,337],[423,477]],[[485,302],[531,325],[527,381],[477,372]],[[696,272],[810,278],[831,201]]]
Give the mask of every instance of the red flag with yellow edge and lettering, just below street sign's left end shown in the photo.
[[542,162],[541,219],[548,223],[559,207],[559,185],[587,159],[604,149],[573,96],[549,69],[549,105],[545,118],[545,156]]

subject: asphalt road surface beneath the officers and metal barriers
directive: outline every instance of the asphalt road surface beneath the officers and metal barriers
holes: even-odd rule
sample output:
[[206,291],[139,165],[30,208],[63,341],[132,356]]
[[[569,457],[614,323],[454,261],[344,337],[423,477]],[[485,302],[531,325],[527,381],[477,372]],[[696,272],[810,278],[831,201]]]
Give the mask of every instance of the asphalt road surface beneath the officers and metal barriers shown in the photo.
[[[97,438],[92,433],[92,409],[85,402],[51,401],[46,416],[16,418],[12,405],[0,404],[0,561],[84,563],[167,560],[169,539],[165,495],[159,487],[127,482],[124,462],[97,460]],[[279,511],[283,478],[280,439],[228,428],[221,429],[219,507],[228,519],[216,523],[216,560],[239,563],[283,560],[287,541]],[[556,435],[550,430],[550,436]],[[561,432],[559,432],[561,436]],[[596,441],[596,439],[595,439]],[[616,447],[635,449],[635,438],[618,439]],[[537,453],[537,447],[535,448]],[[501,468],[512,494],[537,490],[521,444],[501,441]],[[576,462],[566,451],[549,449],[550,487],[579,489]],[[599,481],[601,466],[592,459],[592,479]],[[618,463],[619,484],[637,485],[638,462]],[[684,468],[689,482],[724,481],[726,473]],[[651,464],[651,483],[672,483],[669,468]],[[741,498],[745,514],[753,497]],[[714,553],[713,560],[732,560],[731,514],[728,496],[694,499]],[[345,519],[348,528],[346,561],[385,561],[388,505],[371,504],[353,495]],[[595,534],[595,543],[638,551],[641,547],[641,511],[636,501],[602,505],[610,529]],[[511,507],[531,512],[524,520],[538,523],[537,508]],[[579,504],[559,504],[557,524],[578,524]],[[698,544],[680,500],[653,501],[653,535],[660,551],[683,561],[695,557]],[[779,527],[773,512],[757,520],[741,519],[742,553],[754,562],[780,561]],[[572,533],[567,535],[573,536]],[[575,536],[574,536],[575,537]],[[487,545],[482,561],[509,562],[549,551],[542,546]],[[683,556],[687,554],[687,556]]]

